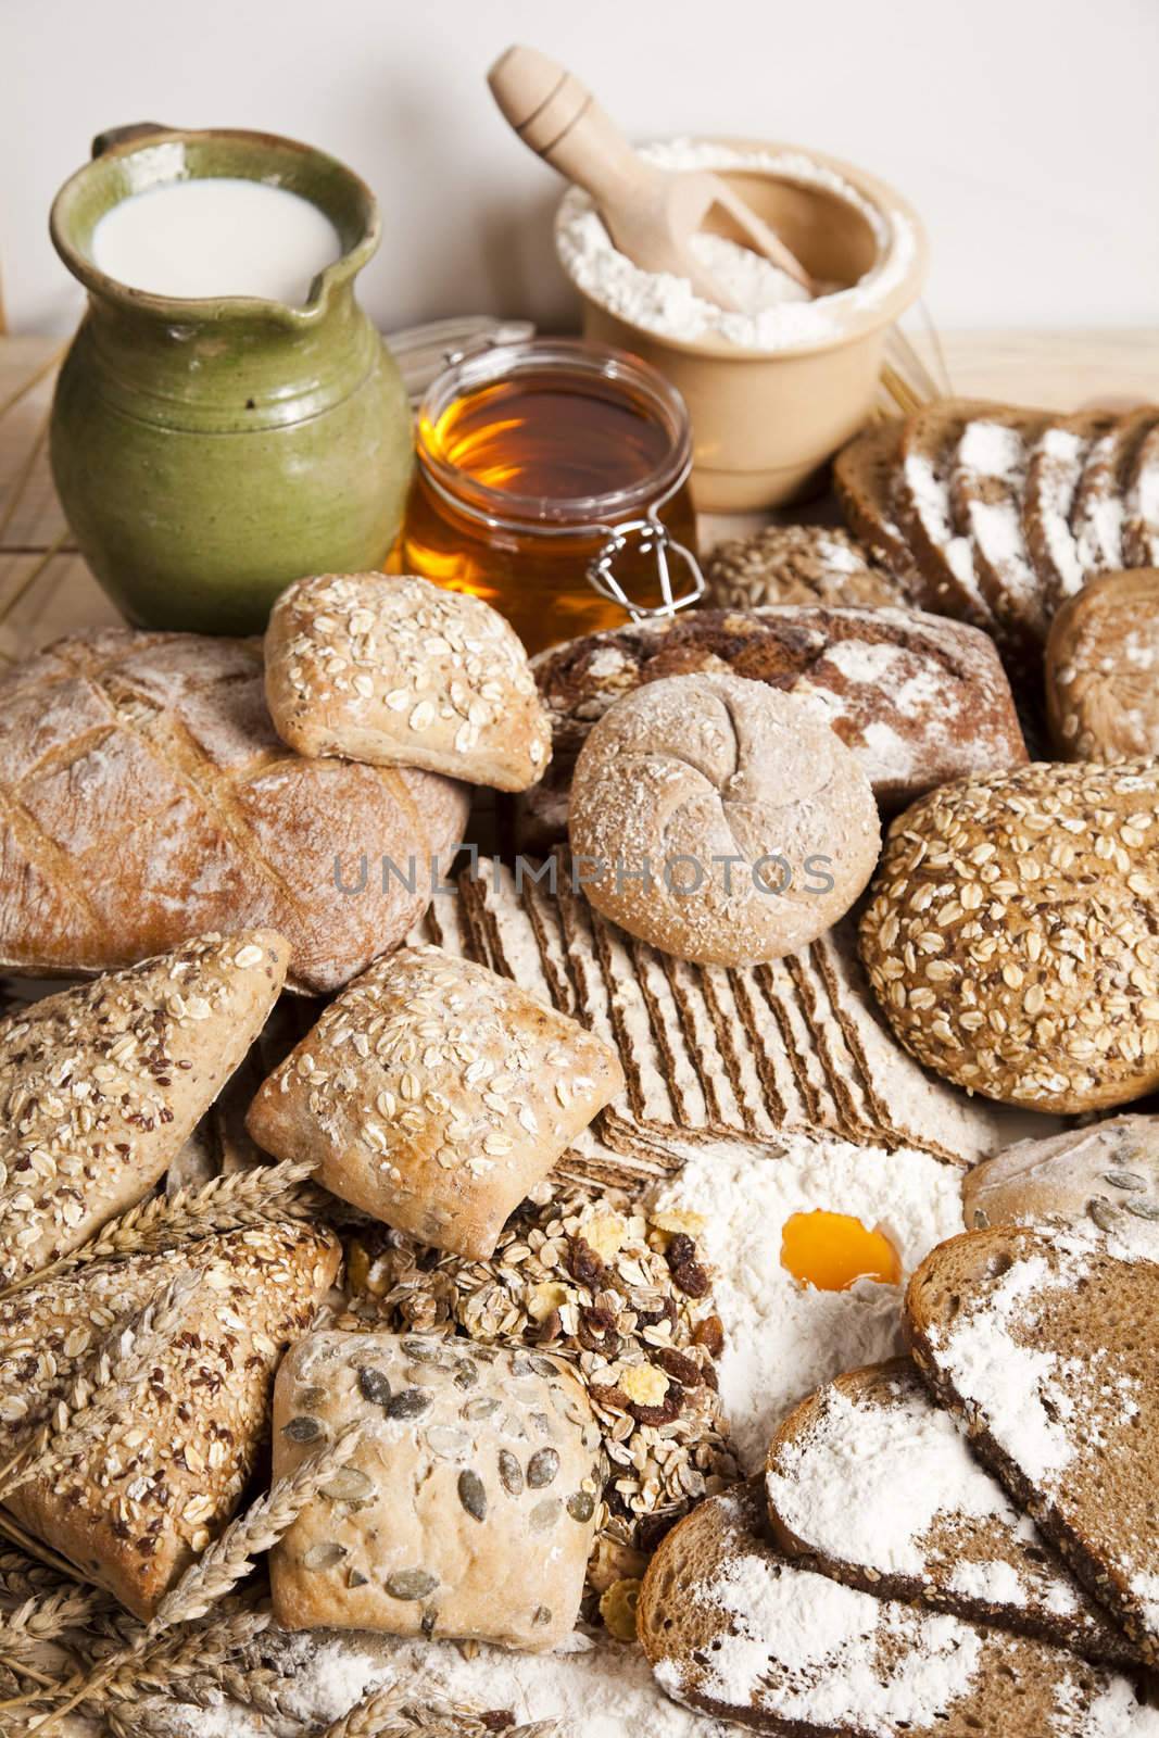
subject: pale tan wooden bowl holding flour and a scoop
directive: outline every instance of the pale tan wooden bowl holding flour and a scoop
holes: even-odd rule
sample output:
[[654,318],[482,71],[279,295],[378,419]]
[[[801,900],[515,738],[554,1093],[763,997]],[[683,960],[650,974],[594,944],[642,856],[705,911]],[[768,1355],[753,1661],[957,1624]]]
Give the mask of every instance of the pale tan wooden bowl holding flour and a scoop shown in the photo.
[[[678,339],[626,320],[591,289],[584,335],[634,351],[678,388],[693,429],[692,490],[705,513],[775,507],[810,494],[832,454],[867,421],[878,393],[890,327],[921,294],[926,240],[916,212],[884,182],[851,163],[758,139],[711,141],[725,151],[784,167],[712,163],[787,242],[815,280],[848,285],[810,313],[796,309],[777,349],[751,349],[721,335]],[[568,210],[584,198],[565,196]],[[568,202],[572,202],[568,205]],[[565,271],[577,271],[561,249]]]

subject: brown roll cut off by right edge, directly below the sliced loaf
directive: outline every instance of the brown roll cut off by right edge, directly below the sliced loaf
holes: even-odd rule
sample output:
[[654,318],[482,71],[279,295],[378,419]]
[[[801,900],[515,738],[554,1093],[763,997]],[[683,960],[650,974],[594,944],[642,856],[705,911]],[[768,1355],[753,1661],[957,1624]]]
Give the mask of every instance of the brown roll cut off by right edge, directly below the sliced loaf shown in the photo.
[[1046,641],[1046,714],[1070,761],[1159,756],[1159,568],[1103,574]]

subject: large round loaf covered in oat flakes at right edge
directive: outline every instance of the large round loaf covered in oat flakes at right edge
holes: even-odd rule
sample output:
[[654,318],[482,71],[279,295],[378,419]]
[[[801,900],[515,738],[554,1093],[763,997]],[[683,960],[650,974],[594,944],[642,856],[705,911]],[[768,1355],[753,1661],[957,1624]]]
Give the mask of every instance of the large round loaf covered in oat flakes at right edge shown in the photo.
[[860,925],[900,1041],[1036,1111],[1159,1085],[1159,763],[964,779],[893,822]]

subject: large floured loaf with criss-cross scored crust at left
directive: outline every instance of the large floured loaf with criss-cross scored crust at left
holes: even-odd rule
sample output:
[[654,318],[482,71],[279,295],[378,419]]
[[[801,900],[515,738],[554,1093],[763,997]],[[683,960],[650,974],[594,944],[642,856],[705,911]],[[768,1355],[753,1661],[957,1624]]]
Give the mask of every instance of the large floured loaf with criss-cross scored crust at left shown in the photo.
[[0,966],[103,972],[262,925],[295,987],[332,991],[417,921],[466,815],[433,773],[290,754],[261,641],[59,640],[0,680]]

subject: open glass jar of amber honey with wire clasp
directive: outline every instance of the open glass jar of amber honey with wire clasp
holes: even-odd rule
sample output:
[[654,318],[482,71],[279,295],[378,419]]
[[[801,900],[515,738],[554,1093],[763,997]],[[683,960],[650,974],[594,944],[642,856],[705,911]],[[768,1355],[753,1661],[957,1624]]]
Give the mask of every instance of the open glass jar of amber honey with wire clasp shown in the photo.
[[566,339],[455,360],[431,384],[389,561],[485,598],[528,652],[695,603],[704,580],[679,393]]

